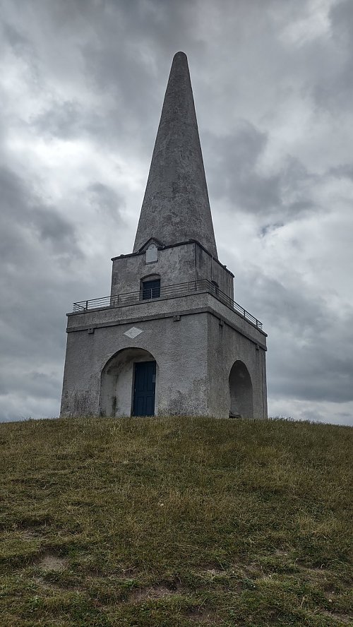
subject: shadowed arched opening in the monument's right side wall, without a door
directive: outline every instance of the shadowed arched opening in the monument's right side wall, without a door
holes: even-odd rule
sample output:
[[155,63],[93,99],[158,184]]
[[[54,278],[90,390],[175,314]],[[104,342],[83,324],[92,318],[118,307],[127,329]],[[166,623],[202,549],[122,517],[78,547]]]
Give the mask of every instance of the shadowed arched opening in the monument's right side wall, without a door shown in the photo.
[[229,417],[253,418],[253,386],[246,365],[237,360],[229,374]]

